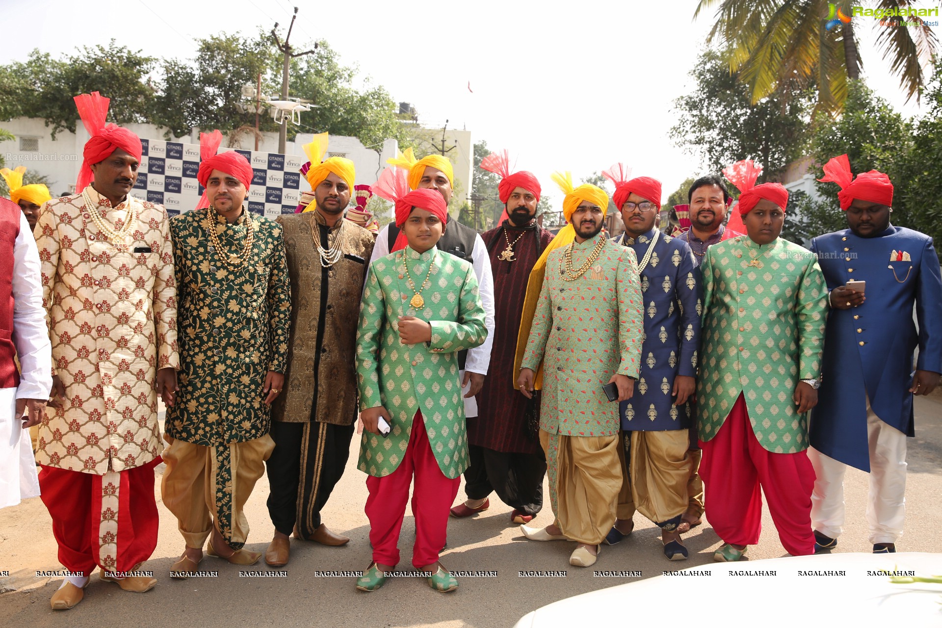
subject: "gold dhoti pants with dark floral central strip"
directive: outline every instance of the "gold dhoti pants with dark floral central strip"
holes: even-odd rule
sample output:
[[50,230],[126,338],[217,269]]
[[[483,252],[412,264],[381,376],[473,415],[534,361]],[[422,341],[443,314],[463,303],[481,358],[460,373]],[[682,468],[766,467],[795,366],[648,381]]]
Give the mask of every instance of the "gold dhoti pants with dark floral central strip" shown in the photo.
[[212,532],[234,550],[249,538],[245,503],[265,473],[265,460],[275,448],[266,434],[245,443],[208,447],[165,436],[162,454],[167,470],[160,484],[164,505],[177,518],[187,547],[202,548]]

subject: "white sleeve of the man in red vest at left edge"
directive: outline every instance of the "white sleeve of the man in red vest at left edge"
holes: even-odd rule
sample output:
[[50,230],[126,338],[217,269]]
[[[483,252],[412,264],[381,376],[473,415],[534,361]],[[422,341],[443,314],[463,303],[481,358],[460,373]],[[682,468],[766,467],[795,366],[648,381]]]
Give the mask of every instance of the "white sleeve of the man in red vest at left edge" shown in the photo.
[[40,251],[26,217],[13,245],[13,345],[20,360],[17,399],[48,399],[53,387],[52,346],[42,307]]

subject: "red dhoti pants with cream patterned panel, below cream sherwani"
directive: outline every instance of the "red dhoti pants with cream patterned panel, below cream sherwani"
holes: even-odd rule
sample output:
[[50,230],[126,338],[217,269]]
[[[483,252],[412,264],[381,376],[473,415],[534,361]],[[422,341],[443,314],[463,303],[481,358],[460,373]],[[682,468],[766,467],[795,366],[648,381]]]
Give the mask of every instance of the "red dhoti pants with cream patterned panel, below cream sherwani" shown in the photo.
[[42,503],[53,519],[58,558],[70,572],[130,572],[157,546],[154,459],[126,471],[83,474],[43,466]]

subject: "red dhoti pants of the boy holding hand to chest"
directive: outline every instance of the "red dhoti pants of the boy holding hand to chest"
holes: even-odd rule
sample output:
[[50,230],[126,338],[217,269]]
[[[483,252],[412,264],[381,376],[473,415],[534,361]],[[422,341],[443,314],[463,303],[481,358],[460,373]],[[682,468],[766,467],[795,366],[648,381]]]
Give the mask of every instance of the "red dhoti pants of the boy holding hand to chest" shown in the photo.
[[439,468],[438,460],[431,453],[422,412],[415,412],[409,445],[396,471],[385,477],[370,475],[366,478],[369,542],[373,545],[373,560],[381,565],[398,565],[399,530],[409,501],[413,475],[413,566],[419,569],[437,562],[438,553],[445,547],[448,509],[454,503],[462,482],[461,477],[447,478]]

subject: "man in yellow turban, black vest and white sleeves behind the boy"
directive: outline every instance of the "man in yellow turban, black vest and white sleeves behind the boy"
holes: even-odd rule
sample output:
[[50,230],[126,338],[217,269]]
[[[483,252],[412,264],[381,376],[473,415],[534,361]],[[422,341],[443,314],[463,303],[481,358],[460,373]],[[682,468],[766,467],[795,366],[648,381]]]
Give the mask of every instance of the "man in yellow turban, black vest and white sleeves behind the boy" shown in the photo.
[[[454,173],[451,162],[447,157],[430,154],[416,160],[412,149],[400,154],[398,159],[390,159],[389,163],[398,168],[409,170],[409,187],[418,189],[426,187],[438,190],[445,202],[451,201],[451,182]],[[392,223],[380,230],[376,237],[376,246],[369,264],[389,254],[396,242],[398,229]],[[457,220],[448,221],[448,228],[436,245],[456,257],[466,260],[474,266],[474,274],[478,277],[479,294],[486,314],[487,340],[484,344],[473,349],[463,351],[458,356],[464,391],[464,414],[467,417],[478,416],[478,402],[474,395],[480,392],[487,375],[487,367],[491,362],[491,346],[494,343],[494,277],[491,274],[491,258],[484,246],[480,235],[470,227],[465,227]],[[367,265],[368,267],[368,265]]]

